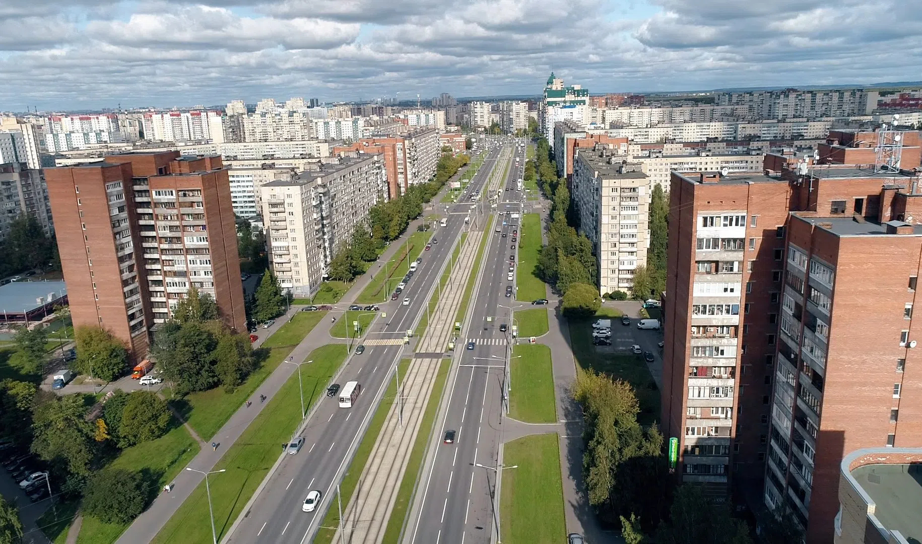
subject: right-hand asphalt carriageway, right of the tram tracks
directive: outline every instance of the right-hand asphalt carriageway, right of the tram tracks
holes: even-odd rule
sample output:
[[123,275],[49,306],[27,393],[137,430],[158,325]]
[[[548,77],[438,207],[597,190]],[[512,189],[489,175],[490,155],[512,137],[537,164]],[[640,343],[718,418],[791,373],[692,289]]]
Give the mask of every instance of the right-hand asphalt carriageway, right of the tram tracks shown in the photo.
[[[510,169],[505,180],[509,191],[503,191],[498,211],[515,210],[523,194],[517,190],[521,167],[525,165],[525,151],[515,150],[519,169]],[[520,216],[521,218],[521,216]],[[502,225],[505,219],[507,225]],[[467,341],[474,349],[465,349],[455,381],[448,392],[448,407],[443,420],[436,426],[438,441],[431,465],[423,471],[423,481],[417,491],[421,496],[419,510],[414,510],[409,520],[407,538],[413,544],[443,544],[464,542],[490,542],[495,532],[491,501],[495,474],[487,468],[475,467],[478,463],[495,467],[498,448],[502,443],[503,379],[510,330],[503,333],[500,325],[512,325],[509,310],[502,306],[515,306],[514,297],[506,297],[513,231],[520,228],[520,219],[508,215],[497,217],[494,225],[501,232],[491,230],[491,241],[483,261],[483,275],[471,305]],[[502,237],[502,233],[506,237]],[[515,259],[518,262],[518,259]],[[487,318],[491,317],[488,322]],[[454,430],[455,443],[443,442],[444,432]]]

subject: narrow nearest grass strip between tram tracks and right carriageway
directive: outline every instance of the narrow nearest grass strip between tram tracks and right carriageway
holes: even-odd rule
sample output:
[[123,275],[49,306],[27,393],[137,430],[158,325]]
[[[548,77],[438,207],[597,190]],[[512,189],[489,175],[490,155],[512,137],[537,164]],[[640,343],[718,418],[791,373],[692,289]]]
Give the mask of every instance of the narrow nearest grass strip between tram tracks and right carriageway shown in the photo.
[[394,509],[391,511],[391,517],[387,520],[387,528],[384,529],[384,539],[382,540],[384,544],[397,544],[400,538],[400,530],[403,528],[404,519],[407,518],[407,509],[409,508],[410,499],[413,497],[413,488],[416,486],[416,479],[422,467],[422,456],[426,454],[426,443],[429,441],[432,425],[435,423],[439,403],[442,402],[442,393],[445,380],[448,379],[451,362],[452,360],[450,359],[443,359],[441,366],[439,366],[439,373],[435,375],[435,385],[432,387],[432,394],[429,397],[429,404],[426,405],[426,412],[422,415],[420,432],[417,433],[416,442],[413,443],[413,449],[410,450],[407,470],[404,471],[404,477],[400,480],[400,488],[397,490]]

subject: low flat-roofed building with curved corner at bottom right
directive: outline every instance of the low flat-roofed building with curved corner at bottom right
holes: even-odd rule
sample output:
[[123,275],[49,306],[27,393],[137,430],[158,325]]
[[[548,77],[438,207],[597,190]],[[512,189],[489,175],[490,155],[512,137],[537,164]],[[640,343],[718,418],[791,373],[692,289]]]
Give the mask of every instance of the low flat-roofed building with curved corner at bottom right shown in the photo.
[[835,544],[922,542],[922,448],[867,448],[840,465]]

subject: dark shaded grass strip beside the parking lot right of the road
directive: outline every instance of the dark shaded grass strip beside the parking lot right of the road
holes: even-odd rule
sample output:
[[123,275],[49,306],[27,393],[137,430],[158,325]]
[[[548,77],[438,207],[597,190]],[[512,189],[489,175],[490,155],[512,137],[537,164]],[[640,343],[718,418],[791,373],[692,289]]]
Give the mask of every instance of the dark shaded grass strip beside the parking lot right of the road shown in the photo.
[[[608,317],[608,315],[606,315]],[[640,402],[640,413],[637,420],[642,425],[650,425],[659,420],[659,388],[653,381],[644,358],[630,353],[611,353],[602,346],[592,345],[592,322],[596,317],[583,319],[569,319],[570,341],[572,343],[573,357],[580,368],[593,369],[597,372],[609,373],[615,378],[632,384],[637,400]],[[621,325],[613,325],[621,326]]]

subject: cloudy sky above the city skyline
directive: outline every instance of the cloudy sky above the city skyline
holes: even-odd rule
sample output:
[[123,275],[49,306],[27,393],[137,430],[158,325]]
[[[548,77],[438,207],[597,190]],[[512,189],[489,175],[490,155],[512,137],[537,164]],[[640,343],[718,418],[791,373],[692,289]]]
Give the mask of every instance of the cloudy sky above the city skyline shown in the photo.
[[2,0],[0,111],[922,79],[918,0]]

